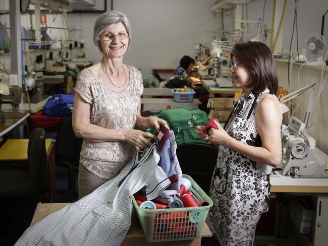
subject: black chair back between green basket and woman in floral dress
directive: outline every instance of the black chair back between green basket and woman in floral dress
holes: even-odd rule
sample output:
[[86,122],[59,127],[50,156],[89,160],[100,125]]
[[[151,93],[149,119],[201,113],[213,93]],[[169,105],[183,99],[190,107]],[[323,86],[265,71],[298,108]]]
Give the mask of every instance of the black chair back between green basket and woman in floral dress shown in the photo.
[[190,175],[208,194],[217,159],[217,148],[208,144],[185,143],[178,146],[177,157],[182,173]]

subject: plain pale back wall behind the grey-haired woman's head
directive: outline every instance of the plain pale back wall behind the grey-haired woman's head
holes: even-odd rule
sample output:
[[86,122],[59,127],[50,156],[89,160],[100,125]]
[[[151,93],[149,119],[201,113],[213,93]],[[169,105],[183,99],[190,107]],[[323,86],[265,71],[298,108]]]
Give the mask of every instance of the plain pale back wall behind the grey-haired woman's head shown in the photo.
[[[108,9],[110,9],[108,1]],[[132,43],[124,63],[143,75],[151,68],[175,68],[183,55],[194,57],[196,42],[210,42],[215,18],[209,12],[214,0],[115,0],[114,9],[124,12],[131,23]],[[92,43],[93,25],[99,14],[68,14],[70,25],[83,28],[88,59],[98,61],[100,53]]]

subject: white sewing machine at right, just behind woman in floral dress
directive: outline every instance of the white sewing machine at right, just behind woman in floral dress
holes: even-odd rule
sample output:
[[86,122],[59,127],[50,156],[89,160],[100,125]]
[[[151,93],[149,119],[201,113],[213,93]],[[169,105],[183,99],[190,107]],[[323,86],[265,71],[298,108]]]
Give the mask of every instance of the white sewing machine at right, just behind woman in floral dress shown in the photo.
[[282,174],[292,177],[327,177],[323,166],[312,150],[315,140],[303,133],[305,124],[292,116],[288,129],[282,130],[283,170]]

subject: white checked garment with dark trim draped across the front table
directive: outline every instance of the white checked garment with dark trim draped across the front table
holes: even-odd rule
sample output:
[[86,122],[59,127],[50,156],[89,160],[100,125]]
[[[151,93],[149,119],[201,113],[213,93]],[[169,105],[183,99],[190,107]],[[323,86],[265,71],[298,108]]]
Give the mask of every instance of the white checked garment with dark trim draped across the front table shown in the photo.
[[152,200],[170,184],[159,158],[155,144],[140,160],[137,153],[118,176],[29,227],[15,245],[120,245],[131,225],[131,196],[145,187]]

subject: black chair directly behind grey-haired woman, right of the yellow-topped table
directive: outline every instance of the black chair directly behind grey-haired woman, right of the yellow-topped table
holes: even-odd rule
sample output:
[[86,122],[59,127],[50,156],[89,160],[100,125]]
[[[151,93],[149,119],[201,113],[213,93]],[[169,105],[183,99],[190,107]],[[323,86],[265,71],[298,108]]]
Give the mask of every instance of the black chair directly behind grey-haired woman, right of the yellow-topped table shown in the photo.
[[75,175],[79,170],[82,138],[77,138],[73,131],[72,118],[65,120],[56,136],[56,166],[68,169],[68,188],[61,199],[78,198]]

